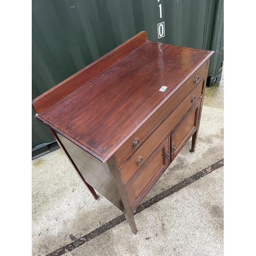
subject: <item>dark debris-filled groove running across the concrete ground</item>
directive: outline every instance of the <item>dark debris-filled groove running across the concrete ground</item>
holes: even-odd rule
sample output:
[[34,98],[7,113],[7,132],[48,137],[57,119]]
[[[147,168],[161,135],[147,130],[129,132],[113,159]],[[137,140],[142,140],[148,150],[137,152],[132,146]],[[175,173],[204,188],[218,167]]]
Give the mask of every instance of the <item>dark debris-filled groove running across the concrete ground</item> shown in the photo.
[[[218,168],[224,166],[224,159],[206,167],[203,170],[200,170],[200,172],[186,178],[185,180],[179,182],[178,184],[164,190],[162,193],[156,195],[155,197],[141,203],[134,215],[138,214],[139,212],[141,212],[142,210],[152,206],[153,204],[161,201],[162,199],[172,195],[173,193],[179,191],[181,188],[184,188],[185,186],[197,181],[198,179],[202,178],[203,176],[213,172],[214,170],[217,170]],[[78,246],[87,243],[88,241],[98,237],[100,234],[104,233],[105,231],[108,231],[109,229],[115,227],[116,225],[120,224],[121,222],[125,221],[125,217],[124,215],[118,216],[117,218],[113,219],[112,221],[96,228],[95,230],[93,230],[92,232],[86,234],[85,236],[76,239],[75,241],[73,241],[72,243],[63,246],[62,248],[59,248],[57,250],[55,250],[54,252],[51,252],[50,254],[47,254],[46,256],[60,256],[66,252],[72,251],[75,248],[77,248]],[[73,235],[71,234],[71,236],[73,237]],[[75,238],[75,237],[73,237]]]

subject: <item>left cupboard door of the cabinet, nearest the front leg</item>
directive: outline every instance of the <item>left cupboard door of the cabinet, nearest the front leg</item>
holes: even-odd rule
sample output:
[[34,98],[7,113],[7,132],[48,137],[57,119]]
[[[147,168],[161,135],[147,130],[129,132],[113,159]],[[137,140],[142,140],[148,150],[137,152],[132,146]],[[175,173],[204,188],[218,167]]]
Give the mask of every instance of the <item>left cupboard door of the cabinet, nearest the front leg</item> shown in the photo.
[[169,137],[158,146],[150,158],[145,161],[127,183],[125,190],[133,210],[139,205],[147,192],[168,167],[170,163],[170,148],[168,145]]

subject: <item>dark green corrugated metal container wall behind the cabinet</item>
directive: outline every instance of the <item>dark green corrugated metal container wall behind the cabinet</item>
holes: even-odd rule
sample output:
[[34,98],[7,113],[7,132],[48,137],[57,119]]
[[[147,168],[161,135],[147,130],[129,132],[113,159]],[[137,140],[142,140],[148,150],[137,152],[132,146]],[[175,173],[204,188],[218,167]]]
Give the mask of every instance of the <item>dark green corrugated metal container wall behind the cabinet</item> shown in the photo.
[[[220,80],[223,0],[33,0],[32,99],[142,30],[148,40],[214,50],[208,86]],[[34,115],[32,110],[36,155],[54,138]]]

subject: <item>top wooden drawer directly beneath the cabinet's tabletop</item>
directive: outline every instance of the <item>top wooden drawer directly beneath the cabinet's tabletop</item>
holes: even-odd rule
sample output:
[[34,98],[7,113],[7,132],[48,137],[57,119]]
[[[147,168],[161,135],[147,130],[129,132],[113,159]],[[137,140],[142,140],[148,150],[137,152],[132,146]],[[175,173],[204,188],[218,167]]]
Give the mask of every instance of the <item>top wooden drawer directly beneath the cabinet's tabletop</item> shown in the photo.
[[[140,145],[150,136],[159,124],[178,106],[178,104],[191,92],[198,84],[201,84],[206,71],[207,62],[204,62],[193,74],[191,74],[172,95],[148,118],[136,132],[127,139],[115,153],[116,163],[120,168],[123,163],[140,147]],[[200,86],[201,87],[201,86]],[[202,91],[201,91],[202,93]],[[134,143],[133,143],[134,142]]]

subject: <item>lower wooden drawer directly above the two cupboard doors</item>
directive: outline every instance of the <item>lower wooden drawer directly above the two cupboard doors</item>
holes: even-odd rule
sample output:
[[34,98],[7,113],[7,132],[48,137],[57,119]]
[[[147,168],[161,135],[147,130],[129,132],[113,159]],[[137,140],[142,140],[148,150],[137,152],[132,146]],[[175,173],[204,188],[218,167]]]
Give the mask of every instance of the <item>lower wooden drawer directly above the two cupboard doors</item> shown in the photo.
[[[134,154],[127,159],[122,165],[119,172],[121,179],[126,184],[131,177],[137,172],[163,139],[174,129],[177,123],[187,113],[187,111],[198,101],[201,97],[203,89],[203,82],[190,92],[187,97],[178,105],[178,107],[157,127],[157,129],[148,137],[144,143],[134,152]],[[140,162],[137,159],[140,157]],[[140,164],[138,164],[140,163]]]

